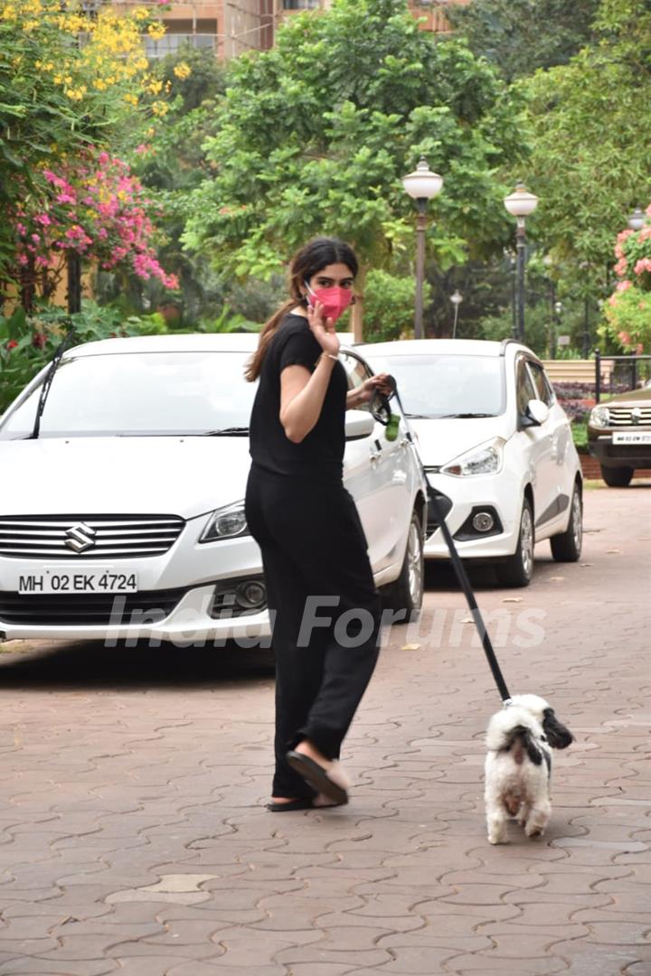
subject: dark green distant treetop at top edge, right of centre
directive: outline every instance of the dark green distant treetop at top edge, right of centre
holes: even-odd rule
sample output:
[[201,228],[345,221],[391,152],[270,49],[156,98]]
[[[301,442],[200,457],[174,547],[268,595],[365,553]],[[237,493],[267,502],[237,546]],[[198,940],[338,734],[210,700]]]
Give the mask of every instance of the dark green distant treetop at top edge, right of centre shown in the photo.
[[510,79],[566,64],[592,36],[598,0],[472,0],[450,6],[452,26],[477,57]]

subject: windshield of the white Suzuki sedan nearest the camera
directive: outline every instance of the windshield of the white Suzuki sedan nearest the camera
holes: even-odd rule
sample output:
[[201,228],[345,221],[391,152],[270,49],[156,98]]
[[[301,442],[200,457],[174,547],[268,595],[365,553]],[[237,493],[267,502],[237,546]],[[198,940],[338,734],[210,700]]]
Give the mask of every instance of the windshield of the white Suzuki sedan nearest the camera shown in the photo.
[[[201,350],[64,358],[39,436],[246,434],[256,392],[244,379],[250,356]],[[1,440],[31,434],[40,390],[41,384],[5,418]]]

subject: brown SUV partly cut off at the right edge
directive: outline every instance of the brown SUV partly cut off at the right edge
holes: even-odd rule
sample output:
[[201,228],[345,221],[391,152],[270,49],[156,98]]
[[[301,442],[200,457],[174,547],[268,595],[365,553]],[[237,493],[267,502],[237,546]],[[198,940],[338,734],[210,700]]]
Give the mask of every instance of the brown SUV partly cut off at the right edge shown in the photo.
[[588,447],[613,488],[625,488],[635,468],[651,468],[651,380],[592,408]]

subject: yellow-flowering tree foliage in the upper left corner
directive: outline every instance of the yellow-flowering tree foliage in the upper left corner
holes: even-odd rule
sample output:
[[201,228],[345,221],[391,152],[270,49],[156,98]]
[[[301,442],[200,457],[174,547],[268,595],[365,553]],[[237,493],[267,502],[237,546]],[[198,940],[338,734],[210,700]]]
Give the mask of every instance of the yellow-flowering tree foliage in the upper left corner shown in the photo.
[[89,145],[114,150],[137,137],[141,116],[164,115],[146,31],[164,28],[145,7],[93,17],[75,0],[0,0],[0,279],[12,277],[15,258],[7,215],[41,206],[45,170]]

